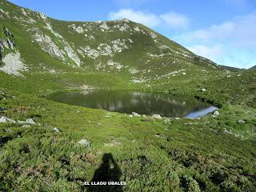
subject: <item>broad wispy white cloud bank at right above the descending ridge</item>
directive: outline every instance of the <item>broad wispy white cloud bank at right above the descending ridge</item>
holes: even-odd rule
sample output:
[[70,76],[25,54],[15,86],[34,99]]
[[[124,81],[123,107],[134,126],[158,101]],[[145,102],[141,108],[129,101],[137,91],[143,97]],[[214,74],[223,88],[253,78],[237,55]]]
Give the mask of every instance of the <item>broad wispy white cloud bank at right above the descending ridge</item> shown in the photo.
[[249,68],[256,63],[256,13],[246,14],[173,39],[218,64]]

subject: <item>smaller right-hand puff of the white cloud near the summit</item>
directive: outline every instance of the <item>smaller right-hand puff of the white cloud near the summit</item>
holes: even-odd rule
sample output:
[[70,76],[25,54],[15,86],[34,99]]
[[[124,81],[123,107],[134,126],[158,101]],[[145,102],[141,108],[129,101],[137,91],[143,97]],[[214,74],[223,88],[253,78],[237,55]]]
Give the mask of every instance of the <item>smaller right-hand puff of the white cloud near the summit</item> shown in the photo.
[[186,28],[190,23],[189,18],[187,18],[186,15],[175,12],[161,14],[160,18],[166,22],[166,24],[177,28]]

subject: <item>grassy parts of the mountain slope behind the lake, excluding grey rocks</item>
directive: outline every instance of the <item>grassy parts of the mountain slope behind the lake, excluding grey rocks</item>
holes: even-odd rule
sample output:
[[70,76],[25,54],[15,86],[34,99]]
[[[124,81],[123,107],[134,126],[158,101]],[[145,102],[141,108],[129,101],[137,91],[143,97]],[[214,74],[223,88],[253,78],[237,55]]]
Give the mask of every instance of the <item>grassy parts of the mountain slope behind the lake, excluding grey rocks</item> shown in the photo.
[[[18,52],[22,56],[22,61],[29,68],[28,71],[22,72],[26,77],[22,78],[22,81],[13,76],[6,77],[6,74],[0,71],[0,85],[2,87],[10,86],[10,89],[14,89],[14,85],[17,85],[19,91],[40,94],[41,90],[63,90],[84,84],[98,88],[134,86],[130,85],[133,79],[146,81],[146,84],[150,84],[156,78],[161,78],[162,75],[176,70],[187,70],[188,73],[181,77],[185,79],[190,79],[189,75],[198,74],[201,70],[206,70],[213,74],[217,71],[222,72],[222,70],[215,69],[210,61],[202,60],[184,47],[138,23],[125,21],[106,22],[107,26],[113,31],[103,32],[100,28],[102,23],[63,22],[52,18],[44,20],[37,12],[23,9],[6,1],[0,1],[0,3],[2,10],[8,13],[8,16],[1,13],[0,27],[6,26],[14,34]],[[24,11],[26,14],[23,13]],[[46,29],[46,23],[50,24],[54,32]],[[82,26],[84,30],[88,31],[79,34],[70,27],[72,24],[76,27]],[[119,28],[114,28],[117,25],[127,25],[129,29],[121,31]],[[135,27],[138,27],[140,31],[134,31]],[[42,51],[40,45],[34,41],[34,34],[39,32],[34,32],[34,30],[48,35],[60,49],[63,49],[63,41],[68,42],[76,54],[78,54],[78,49],[81,46],[90,46],[97,49],[101,43],[111,45],[111,41],[117,39],[124,39],[129,49],[115,53],[113,57],[103,55],[96,59],[83,58],[82,55],[78,54],[82,67],[73,67],[75,64],[70,58],[68,63],[65,63]],[[150,33],[158,36],[157,42],[154,42],[155,39],[150,37]],[[2,34],[2,31],[0,34]],[[61,35],[62,39],[58,38],[56,34]],[[94,39],[90,39],[85,35],[92,35]],[[169,49],[174,51],[169,49],[161,50],[160,46],[168,46]],[[3,57],[6,54],[8,52],[4,52]],[[150,56],[149,54],[162,56]],[[189,58],[186,58],[183,54],[188,55]],[[118,62],[124,67],[122,70],[117,70],[111,66],[106,66],[105,69],[96,70],[98,63],[104,65],[109,60]],[[131,74],[129,72],[130,69],[136,69],[138,73]],[[49,70],[55,70],[55,72],[49,73]],[[114,78],[114,81],[107,81],[110,78]],[[30,86],[27,87],[26,85]],[[38,88],[37,85],[42,87]],[[140,87],[141,85],[138,86]]]

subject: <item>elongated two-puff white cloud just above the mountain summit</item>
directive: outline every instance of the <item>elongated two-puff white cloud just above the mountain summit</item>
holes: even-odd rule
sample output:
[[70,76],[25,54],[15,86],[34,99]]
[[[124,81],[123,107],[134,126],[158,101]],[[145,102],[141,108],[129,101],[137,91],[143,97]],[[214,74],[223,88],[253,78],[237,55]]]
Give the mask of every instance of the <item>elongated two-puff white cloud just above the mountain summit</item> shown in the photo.
[[131,21],[142,23],[143,25],[150,27],[166,26],[175,29],[186,28],[190,22],[186,15],[175,12],[158,15],[142,11],[122,9],[109,14],[110,20],[122,18],[128,18]]

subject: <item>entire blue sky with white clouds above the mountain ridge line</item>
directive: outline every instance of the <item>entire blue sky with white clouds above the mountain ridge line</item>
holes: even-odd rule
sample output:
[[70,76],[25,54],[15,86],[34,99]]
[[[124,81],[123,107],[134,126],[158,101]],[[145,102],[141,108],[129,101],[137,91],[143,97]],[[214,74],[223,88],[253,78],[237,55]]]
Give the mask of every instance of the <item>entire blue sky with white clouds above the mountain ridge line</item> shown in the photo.
[[11,0],[52,18],[129,18],[226,66],[256,65],[255,0]]

